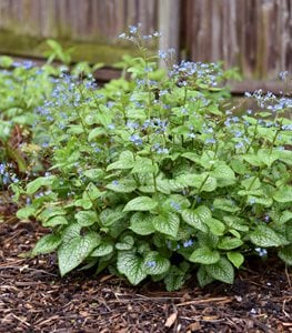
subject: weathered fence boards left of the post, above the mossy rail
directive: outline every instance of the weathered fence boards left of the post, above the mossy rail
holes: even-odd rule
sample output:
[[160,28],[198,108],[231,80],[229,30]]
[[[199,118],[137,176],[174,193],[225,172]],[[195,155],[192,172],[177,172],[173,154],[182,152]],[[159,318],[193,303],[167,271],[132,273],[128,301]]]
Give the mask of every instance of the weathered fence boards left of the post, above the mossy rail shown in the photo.
[[157,0],[0,0],[0,29],[40,38],[114,39],[127,26],[157,29]]

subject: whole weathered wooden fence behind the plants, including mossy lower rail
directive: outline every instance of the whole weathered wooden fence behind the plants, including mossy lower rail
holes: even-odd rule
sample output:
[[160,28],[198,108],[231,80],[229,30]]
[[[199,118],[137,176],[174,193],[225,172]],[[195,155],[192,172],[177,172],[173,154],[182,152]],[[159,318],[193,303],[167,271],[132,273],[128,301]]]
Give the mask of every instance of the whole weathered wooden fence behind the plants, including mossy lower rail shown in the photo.
[[85,59],[110,64],[125,52],[118,34],[138,22],[145,33],[179,27],[163,48],[194,61],[223,60],[245,79],[292,71],[292,0],[0,0],[0,52],[39,56],[53,38],[82,42]]

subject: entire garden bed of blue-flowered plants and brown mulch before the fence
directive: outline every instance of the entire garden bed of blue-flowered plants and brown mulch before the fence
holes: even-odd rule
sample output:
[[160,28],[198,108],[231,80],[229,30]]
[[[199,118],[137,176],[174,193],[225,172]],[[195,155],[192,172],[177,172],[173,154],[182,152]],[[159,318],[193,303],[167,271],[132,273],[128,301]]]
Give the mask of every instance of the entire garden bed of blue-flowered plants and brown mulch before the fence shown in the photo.
[[290,332],[290,95],[129,33],[103,85],[0,58],[0,332]]

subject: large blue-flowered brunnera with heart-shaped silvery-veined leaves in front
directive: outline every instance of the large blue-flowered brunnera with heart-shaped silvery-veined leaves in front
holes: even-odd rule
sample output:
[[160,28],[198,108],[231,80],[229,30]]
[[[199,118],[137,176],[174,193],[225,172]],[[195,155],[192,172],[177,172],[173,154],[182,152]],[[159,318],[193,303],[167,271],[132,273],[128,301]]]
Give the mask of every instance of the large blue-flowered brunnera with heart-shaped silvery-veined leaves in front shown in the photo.
[[232,283],[252,253],[291,264],[291,99],[258,91],[255,110],[223,110],[231,72],[189,61],[163,72],[143,43],[157,36],[121,36],[142,53],[125,61],[129,80],[97,89],[64,74],[40,109],[52,167],[16,194],[31,201],[18,216],[51,230],[32,255],[57,251],[61,275],[108,269],[169,291],[194,274]]

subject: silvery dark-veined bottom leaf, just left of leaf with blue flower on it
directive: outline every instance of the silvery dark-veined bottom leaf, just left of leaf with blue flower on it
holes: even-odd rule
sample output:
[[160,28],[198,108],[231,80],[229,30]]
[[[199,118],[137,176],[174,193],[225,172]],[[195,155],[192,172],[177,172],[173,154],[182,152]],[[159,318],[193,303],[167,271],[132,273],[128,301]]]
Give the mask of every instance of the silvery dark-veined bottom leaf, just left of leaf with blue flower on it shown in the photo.
[[133,285],[147,278],[143,259],[132,251],[119,251],[117,266]]

